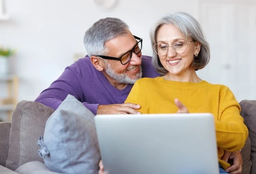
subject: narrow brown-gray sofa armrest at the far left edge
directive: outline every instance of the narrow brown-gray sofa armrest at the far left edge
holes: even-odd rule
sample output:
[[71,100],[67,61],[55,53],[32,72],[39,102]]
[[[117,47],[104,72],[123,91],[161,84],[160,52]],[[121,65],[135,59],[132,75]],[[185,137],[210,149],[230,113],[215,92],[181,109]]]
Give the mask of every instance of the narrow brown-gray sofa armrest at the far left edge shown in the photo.
[[5,167],[9,152],[11,122],[0,122],[0,165]]

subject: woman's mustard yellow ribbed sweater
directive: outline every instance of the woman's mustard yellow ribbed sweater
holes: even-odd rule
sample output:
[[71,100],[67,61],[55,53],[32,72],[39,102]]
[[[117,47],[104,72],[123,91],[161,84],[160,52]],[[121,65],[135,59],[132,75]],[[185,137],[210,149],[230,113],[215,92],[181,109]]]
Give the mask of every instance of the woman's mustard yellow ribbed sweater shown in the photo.
[[[125,103],[136,103],[138,110],[147,113],[177,113],[174,99],[178,98],[189,113],[212,113],[215,118],[218,158],[226,170],[230,166],[220,160],[224,150],[240,150],[248,136],[241,107],[232,91],[224,85],[167,81],[162,77],[142,78],[136,81]],[[203,131],[203,130],[202,130]]]

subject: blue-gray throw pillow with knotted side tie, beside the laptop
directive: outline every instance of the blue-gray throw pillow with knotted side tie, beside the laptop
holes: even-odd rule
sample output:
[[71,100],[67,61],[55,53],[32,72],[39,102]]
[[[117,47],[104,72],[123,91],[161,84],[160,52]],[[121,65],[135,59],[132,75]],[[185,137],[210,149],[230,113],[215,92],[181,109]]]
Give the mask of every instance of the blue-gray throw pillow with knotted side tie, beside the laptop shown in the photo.
[[38,152],[54,172],[97,174],[100,152],[94,114],[68,95],[46,121]]

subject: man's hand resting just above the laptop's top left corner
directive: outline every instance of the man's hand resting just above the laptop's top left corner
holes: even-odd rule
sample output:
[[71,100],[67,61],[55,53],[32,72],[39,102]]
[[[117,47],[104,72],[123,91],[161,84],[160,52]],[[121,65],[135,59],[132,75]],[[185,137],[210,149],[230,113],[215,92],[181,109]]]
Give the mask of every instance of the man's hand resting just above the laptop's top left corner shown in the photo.
[[134,103],[99,105],[97,114],[140,114],[136,109],[140,109],[140,105]]

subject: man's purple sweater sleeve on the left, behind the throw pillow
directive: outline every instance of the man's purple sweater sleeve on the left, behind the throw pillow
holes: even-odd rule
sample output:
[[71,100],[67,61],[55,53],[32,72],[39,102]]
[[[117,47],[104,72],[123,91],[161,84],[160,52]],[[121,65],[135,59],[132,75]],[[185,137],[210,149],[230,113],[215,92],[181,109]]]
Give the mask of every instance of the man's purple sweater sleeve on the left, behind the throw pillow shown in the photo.
[[[78,73],[74,70],[74,67],[66,67],[62,75],[60,75],[50,87],[42,91],[35,101],[55,110],[59,107],[62,101],[66,99],[68,94],[73,95],[76,99],[82,101],[84,94],[77,74]],[[96,115],[99,104],[83,102],[83,105]]]

